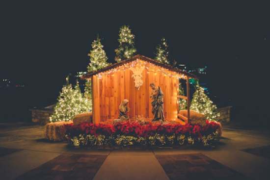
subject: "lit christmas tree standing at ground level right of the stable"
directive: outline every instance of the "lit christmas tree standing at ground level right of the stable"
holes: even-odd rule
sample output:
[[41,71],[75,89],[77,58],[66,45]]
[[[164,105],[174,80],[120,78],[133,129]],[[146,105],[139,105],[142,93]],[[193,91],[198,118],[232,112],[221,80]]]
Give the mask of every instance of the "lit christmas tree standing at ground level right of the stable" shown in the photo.
[[209,99],[204,93],[204,89],[199,85],[196,86],[190,109],[204,114],[209,121],[214,121],[219,117],[219,113],[216,111],[216,105]]

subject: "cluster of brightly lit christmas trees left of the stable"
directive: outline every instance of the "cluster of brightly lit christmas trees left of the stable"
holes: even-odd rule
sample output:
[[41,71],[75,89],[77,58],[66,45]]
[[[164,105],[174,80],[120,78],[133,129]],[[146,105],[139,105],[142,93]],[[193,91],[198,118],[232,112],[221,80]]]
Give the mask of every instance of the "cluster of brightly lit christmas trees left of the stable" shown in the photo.
[[78,81],[73,89],[67,77],[67,84],[63,86],[60,92],[50,121],[71,121],[75,115],[90,110],[91,102],[82,96]]

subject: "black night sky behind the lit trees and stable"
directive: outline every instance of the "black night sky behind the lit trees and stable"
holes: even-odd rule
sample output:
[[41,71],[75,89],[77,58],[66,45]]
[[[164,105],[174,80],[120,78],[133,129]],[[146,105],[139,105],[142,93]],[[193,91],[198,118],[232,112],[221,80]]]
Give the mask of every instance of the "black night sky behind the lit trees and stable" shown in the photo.
[[235,121],[267,124],[269,17],[258,1],[1,2],[0,79],[26,87],[0,90],[0,121],[30,121],[28,108],[54,103],[64,78],[86,70],[97,34],[114,62],[119,27],[129,25],[139,54],[154,57],[164,36],[171,58],[208,66],[214,101],[233,105]]

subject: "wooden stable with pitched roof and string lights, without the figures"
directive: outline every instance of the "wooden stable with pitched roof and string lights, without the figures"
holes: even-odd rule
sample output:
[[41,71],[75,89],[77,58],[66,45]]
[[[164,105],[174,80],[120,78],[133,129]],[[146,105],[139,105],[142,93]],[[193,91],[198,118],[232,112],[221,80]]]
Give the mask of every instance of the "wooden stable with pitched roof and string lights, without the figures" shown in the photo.
[[[134,74],[131,67],[142,67],[142,85],[135,87]],[[166,120],[176,120],[178,117],[178,98],[188,102],[188,117],[181,119],[189,120],[189,83],[187,83],[187,96],[179,96],[179,78],[189,81],[196,78],[194,75],[179,69],[157,62],[143,55],[123,60],[112,64],[104,69],[92,72],[83,78],[90,78],[92,82],[92,110],[93,122],[99,123],[108,119],[117,119],[119,104],[124,99],[129,100],[129,116],[141,116],[153,118],[152,89],[150,83],[160,86],[164,94],[164,116]],[[180,115],[181,116],[181,115]]]

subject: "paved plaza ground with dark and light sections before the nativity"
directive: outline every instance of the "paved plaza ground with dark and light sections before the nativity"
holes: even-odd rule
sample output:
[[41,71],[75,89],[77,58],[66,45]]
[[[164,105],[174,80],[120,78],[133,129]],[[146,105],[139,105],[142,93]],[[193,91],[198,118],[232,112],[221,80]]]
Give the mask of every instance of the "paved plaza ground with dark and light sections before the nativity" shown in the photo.
[[93,150],[43,139],[43,127],[0,124],[2,180],[256,179],[270,175],[269,133],[224,129],[214,149]]

